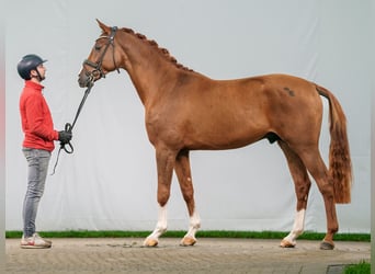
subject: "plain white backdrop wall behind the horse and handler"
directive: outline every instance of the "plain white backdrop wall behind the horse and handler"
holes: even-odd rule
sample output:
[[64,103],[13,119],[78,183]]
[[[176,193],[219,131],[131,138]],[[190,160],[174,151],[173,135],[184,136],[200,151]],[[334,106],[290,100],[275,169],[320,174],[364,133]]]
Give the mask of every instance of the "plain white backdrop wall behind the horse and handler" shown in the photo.
[[[45,98],[55,127],[72,122],[83,90],[77,75],[95,38],[95,18],[156,39],[195,71],[216,79],[291,73],[330,89],[349,127],[354,169],[352,204],[338,205],[340,230],[370,232],[371,0],[35,0],[7,3],[7,230],[22,229],[26,162],[21,152],[15,66],[35,53],[48,59]],[[326,109],[327,104],[323,101]],[[73,155],[61,153],[47,178],[38,230],[151,230],[157,219],[154,148],[144,109],[126,71],[96,82],[73,132]],[[56,144],[58,147],[58,144]],[[321,152],[328,158],[327,114]],[[57,150],[53,153],[53,168]],[[289,230],[294,185],[277,145],[266,140],[228,151],[191,153],[202,229]],[[52,170],[52,169],[50,169]],[[169,229],[188,214],[173,179]],[[270,203],[271,202],[271,203]],[[326,230],[320,193],[311,187],[307,230]]]

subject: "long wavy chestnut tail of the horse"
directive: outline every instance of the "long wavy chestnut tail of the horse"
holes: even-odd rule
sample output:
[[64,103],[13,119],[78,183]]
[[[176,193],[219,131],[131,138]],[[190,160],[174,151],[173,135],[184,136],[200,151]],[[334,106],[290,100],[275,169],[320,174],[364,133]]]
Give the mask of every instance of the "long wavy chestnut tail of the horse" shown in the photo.
[[351,202],[352,162],[346,134],[346,118],[336,96],[327,89],[316,84],[320,95],[329,101],[329,175],[333,182],[334,202],[348,204]]

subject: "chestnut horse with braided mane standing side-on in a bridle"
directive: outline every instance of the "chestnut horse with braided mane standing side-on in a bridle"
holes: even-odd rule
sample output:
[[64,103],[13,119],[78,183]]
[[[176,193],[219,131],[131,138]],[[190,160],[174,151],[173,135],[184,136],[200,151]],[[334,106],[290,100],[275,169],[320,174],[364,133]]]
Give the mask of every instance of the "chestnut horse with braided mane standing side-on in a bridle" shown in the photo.
[[[190,216],[181,244],[196,242],[201,220],[190,150],[234,149],[266,138],[271,144],[276,141],[285,153],[297,196],[293,229],[281,247],[295,247],[304,230],[309,172],[326,207],[327,233],[320,248],[334,248],[333,235],[339,229],[336,203],[350,203],[352,171],[345,116],[330,91],[286,75],[213,80],[178,64],[167,49],[141,34],[98,23],[102,34],[82,65],[79,84],[89,87],[110,71],[126,70],[145,106],[147,134],[156,150],[158,222],[144,246],[157,246],[167,230],[173,170]],[[320,95],[329,102],[329,169],[318,149]]]

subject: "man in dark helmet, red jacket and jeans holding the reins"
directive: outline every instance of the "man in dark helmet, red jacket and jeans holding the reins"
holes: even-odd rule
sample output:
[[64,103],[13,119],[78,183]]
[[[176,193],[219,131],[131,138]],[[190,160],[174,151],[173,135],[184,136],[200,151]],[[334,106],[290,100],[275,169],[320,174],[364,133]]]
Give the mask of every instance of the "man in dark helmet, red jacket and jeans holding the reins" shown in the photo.
[[24,139],[22,151],[27,161],[27,190],[23,201],[23,236],[21,248],[50,248],[52,241],[35,231],[35,219],[39,201],[44,193],[45,181],[55,140],[67,144],[71,133],[54,129],[53,118],[43,96],[46,68],[39,56],[30,54],[18,64],[18,72],[24,79],[20,96],[20,114]]

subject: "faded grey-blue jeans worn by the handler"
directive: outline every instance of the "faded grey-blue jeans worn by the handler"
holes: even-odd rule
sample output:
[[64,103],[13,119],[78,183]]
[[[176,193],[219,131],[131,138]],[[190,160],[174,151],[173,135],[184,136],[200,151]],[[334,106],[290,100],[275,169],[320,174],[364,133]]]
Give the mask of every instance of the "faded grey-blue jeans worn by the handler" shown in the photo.
[[27,160],[27,191],[23,201],[23,235],[35,233],[35,219],[39,201],[44,193],[50,152],[43,149],[23,148]]

